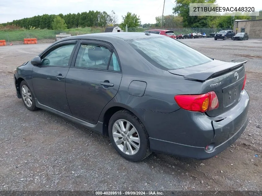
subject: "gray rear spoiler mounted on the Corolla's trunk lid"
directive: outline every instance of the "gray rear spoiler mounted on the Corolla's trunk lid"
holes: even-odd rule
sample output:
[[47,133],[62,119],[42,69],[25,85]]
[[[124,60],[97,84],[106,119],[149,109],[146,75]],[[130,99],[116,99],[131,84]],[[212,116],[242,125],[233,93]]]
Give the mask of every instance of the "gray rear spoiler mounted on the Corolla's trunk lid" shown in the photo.
[[231,62],[222,64],[222,65],[210,68],[210,69],[206,69],[202,72],[189,74],[187,76],[184,76],[184,78],[198,80],[198,81],[205,81],[208,78],[220,75],[224,72],[230,71],[231,69],[240,67],[242,64],[246,63],[247,61],[248,60],[246,59],[235,59],[235,60],[232,60]]

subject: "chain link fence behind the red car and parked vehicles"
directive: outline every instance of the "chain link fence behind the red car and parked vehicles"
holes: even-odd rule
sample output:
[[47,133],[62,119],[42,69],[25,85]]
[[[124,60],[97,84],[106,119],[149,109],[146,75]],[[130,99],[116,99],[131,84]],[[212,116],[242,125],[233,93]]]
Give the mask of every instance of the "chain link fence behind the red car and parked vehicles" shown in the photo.
[[206,33],[206,35],[209,35],[210,33],[219,32],[222,30],[221,28],[127,28],[127,32],[144,32],[149,29],[174,31],[175,35],[189,33]]

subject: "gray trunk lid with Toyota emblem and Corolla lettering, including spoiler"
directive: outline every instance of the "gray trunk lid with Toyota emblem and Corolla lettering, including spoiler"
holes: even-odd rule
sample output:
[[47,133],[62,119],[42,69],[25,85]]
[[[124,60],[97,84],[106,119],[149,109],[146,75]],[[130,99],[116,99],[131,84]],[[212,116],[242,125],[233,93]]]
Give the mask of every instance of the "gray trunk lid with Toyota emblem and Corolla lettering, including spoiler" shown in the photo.
[[219,107],[207,111],[209,116],[220,115],[233,108],[240,100],[240,94],[245,78],[244,63],[247,60],[224,62],[213,60],[198,66],[168,70],[168,72],[185,79],[203,82],[203,94],[214,91],[219,101]]

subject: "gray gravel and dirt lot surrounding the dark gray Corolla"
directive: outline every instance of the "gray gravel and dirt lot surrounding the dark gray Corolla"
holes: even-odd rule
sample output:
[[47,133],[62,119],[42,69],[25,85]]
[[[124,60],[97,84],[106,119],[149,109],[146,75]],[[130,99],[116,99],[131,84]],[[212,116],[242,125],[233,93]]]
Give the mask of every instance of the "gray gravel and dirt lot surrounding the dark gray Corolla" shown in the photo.
[[153,153],[128,162],[108,137],[44,110],[31,112],[16,97],[13,70],[49,44],[3,46],[0,190],[262,190],[262,40],[181,41],[212,58],[249,59],[249,124],[231,147],[204,161]]

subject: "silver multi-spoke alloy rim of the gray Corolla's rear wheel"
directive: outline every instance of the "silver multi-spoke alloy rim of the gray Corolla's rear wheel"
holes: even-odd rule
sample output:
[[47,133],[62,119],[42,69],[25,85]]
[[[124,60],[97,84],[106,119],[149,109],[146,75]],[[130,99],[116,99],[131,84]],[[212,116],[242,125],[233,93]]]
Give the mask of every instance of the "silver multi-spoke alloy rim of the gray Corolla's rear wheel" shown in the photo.
[[135,155],[140,148],[136,128],[128,120],[117,120],[113,125],[113,139],[118,148],[127,155]]

